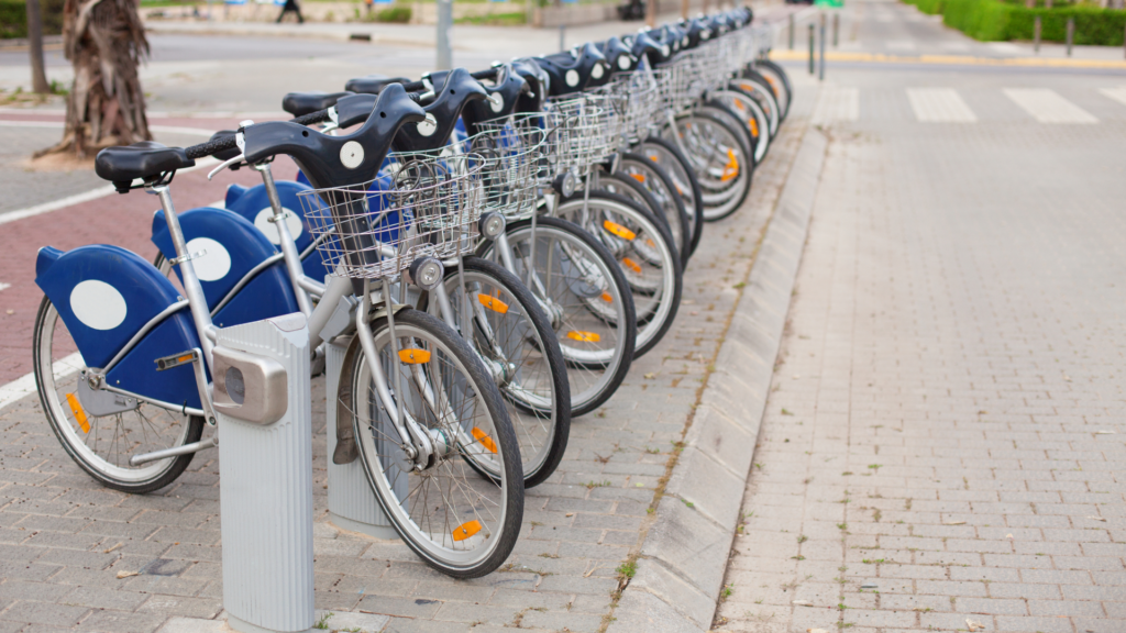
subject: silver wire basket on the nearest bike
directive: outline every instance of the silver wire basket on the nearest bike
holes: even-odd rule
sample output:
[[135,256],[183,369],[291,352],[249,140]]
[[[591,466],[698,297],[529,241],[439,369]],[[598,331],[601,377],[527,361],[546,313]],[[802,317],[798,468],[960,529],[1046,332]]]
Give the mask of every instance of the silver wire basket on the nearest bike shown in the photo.
[[334,275],[383,278],[419,257],[471,252],[481,217],[475,154],[392,153],[367,182],[301,191],[302,209]]

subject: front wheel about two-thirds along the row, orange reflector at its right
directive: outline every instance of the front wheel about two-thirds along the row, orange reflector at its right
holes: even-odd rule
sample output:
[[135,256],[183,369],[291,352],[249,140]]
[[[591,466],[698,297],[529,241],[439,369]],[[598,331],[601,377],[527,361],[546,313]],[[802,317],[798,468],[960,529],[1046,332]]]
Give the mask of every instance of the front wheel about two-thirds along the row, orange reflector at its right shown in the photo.
[[738,133],[724,121],[707,113],[685,113],[677,117],[677,135],[692,163],[704,198],[704,220],[715,222],[735,212],[751,190],[753,162]]

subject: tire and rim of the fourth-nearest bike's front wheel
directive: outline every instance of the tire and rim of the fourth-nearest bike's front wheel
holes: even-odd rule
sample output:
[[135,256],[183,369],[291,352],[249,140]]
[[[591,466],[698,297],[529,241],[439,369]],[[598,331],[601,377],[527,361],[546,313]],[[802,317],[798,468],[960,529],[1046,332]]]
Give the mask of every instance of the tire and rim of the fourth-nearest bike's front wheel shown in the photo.
[[[586,211],[583,211],[583,204],[586,203]],[[625,275],[629,287],[633,291],[634,298],[634,310],[637,313],[637,342],[634,350],[634,358],[640,358],[649,350],[664,338],[664,335],[669,331],[672,322],[677,318],[677,309],[680,306],[680,294],[683,286],[683,271],[680,267],[680,256],[677,252],[677,247],[672,241],[672,235],[669,234],[668,230],[661,225],[655,219],[653,219],[649,212],[635,205],[633,200],[625,198],[623,196],[617,196],[614,194],[607,194],[605,191],[591,191],[589,200],[582,199],[569,199],[560,203],[556,214],[563,219],[570,219],[571,216],[579,216],[577,214],[586,214],[588,217],[581,217],[581,220],[590,220],[595,213],[601,211],[602,213],[614,214],[615,221],[620,220],[618,224],[624,222],[624,225],[634,233],[633,238],[624,239],[618,238],[609,233],[605,229],[605,222],[599,224],[599,230],[596,239],[602,241],[604,244],[610,242],[615,244],[615,249],[609,249],[610,252],[615,253],[615,260],[618,266],[623,268],[623,274]],[[573,220],[571,220],[574,222]],[[587,223],[575,222],[579,226],[587,229]],[[633,266],[626,261],[627,256],[625,252],[632,249],[632,252],[637,257],[642,257],[642,249],[638,249],[638,237],[646,237],[646,242],[642,242],[650,251],[651,256],[659,257],[660,261],[652,265],[662,271],[662,277],[660,279],[660,287],[654,289],[652,296],[656,296],[656,300],[652,302],[641,303],[638,301],[638,295],[650,296],[642,294],[641,286],[638,282],[633,279],[633,275],[626,273],[627,269],[636,273]],[[655,239],[653,239],[655,238]],[[652,244],[647,243],[652,240]],[[628,242],[628,247],[624,246],[622,242]],[[622,259],[617,257],[617,252],[623,252]],[[632,258],[631,258],[632,259]],[[641,268],[641,274],[644,275],[645,269],[641,267],[641,264],[633,260],[633,264]],[[667,273],[665,273],[667,270]],[[647,278],[644,280],[649,282]],[[645,289],[649,289],[649,284],[646,284]],[[660,292],[660,295],[656,295]],[[640,304],[640,305],[638,305]]]

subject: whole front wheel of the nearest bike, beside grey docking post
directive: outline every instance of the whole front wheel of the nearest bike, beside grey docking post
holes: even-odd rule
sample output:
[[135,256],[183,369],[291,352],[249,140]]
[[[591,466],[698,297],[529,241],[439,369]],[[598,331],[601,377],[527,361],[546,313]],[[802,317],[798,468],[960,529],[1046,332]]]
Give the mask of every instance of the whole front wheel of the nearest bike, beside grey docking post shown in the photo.
[[[429,473],[428,478],[434,480],[439,476],[443,472],[450,473],[452,476],[461,475],[464,483],[459,484],[458,492],[465,497],[465,499],[452,499],[447,498],[445,493],[441,492],[441,483],[435,484],[438,488],[438,493],[441,493],[441,501],[436,512],[445,515],[444,520],[439,520],[438,525],[440,532],[435,532],[435,521],[425,519],[421,525],[418,520],[411,517],[412,511],[428,511],[428,508],[437,501],[429,501],[429,482],[419,481],[418,484],[411,485],[413,482],[410,480],[411,474],[417,473],[413,467],[406,467],[411,464],[405,455],[402,453],[402,448],[397,445],[399,438],[392,436],[387,433],[390,428],[390,422],[386,420],[387,413],[382,410],[382,401],[378,395],[370,393],[370,369],[367,365],[366,356],[363,348],[356,350],[352,356],[352,366],[348,369],[352,380],[351,384],[347,385],[350,389],[350,393],[341,393],[340,395],[350,396],[350,405],[352,411],[352,424],[355,426],[355,433],[357,438],[357,446],[359,447],[359,456],[363,461],[364,471],[367,475],[368,483],[372,484],[372,489],[375,492],[375,497],[386,515],[392,527],[402,538],[403,543],[411,549],[425,563],[431,568],[445,573],[446,576],[453,578],[480,578],[488,573],[497,570],[512,553],[512,549],[516,546],[516,542],[520,535],[520,523],[524,518],[524,473],[520,467],[519,448],[517,447],[516,434],[512,430],[512,426],[509,422],[508,413],[504,410],[504,404],[501,400],[500,392],[497,385],[493,384],[492,377],[488,374],[484,366],[477,359],[475,353],[470,348],[468,344],[465,342],[457,332],[452,328],[446,326],[440,320],[418,310],[410,307],[400,310],[394,315],[395,321],[395,333],[396,338],[400,340],[406,338],[413,341],[412,345],[429,345],[431,354],[438,356],[437,359],[434,358],[431,354],[427,355],[427,360],[425,364],[430,366],[437,363],[437,366],[441,366],[443,356],[450,359],[448,367],[445,369],[449,372],[450,369],[457,372],[457,376],[464,381],[464,385],[458,383],[454,384],[453,376],[446,374],[446,377],[450,380],[441,380],[440,372],[435,372],[432,368],[429,371],[431,374],[437,373],[439,380],[427,383],[427,387],[434,390],[435,383],[439,383],[439,386],[445,387],[447,383],[450,386],[465,386],[465,391],[470,394],[470,398],[474,400],[475,404],[480,404],[483,411],[476,410],[474,414],[481,412],[488,416],[489,426],[486,430],[482,430],[481,427],[484,422],[479,422],[480,418],[474,417],[470,424],[475,425],[473,427],[474,431],[481,431],[482,435],[473,435],[474,440],[468,445],[466,442],[462,440],[462,436],[466,435],[463,428],[464,420],[458,418],[456,420],[457,428],[453,428],[449,422],[444,422],[441,419],[435,421],[438,429],[449,436],[456,437],[457,442],[454,443],[450,439],[446,439],[447,444],[456,444],[456,457],[453,453],[446,455],[448,458],[436,460],[434,465],[422,471],[423,473]],[[378,350],[378,344],[381,340],[390,341],[390,328],[386,316],[381,316],[369,324],[373,331],[373,337],[376,342],[376,349]],[[420,344],[421,340],[426,339],[426,344]],[[435,349],[437,348],[437,349]],[[443,354],[444,353],[444,354]],[[384,356],[381,350],[381,363],[391,356]],[[390,365],[395,372],[401,371],[402,363],[395,360],[394,364]],[[418,365],[412,365],[412,367],[418,367]],[[419,369],[421,372],[421,369]],[[414,369],[411,369],[413,373]],[[402,410],[406,407],[408,399],[412,401],[425,401],[423,387],[419,387],[418,394],[412,394],[410,391],[410,385],[414,384],[417,386],[417,381],[419,378],[412,380],[417,374],[412,374],[405,378],[408,387],[404,389],[406,393],[395,394],[392,398],[396,400],[396,407]],[[402,377],[402,376],[400,376]],[[365,380],[366,378],[366,380]],[[430,376],[427,376],[430,381]],[[341,385],[345,381],[341,381]],[[400,383],[401,384],[401,383]],[[443,393],[446,389],[443,389]],[[339,395],[338,395],[339,396]],[[374,398],[373,398],[374,396]],[[435,398],[438,398],[435,395]],[[440,399],[439,399],[440,402]],[[423,404],[425,407],[425,404]],[[448,405],[449,409],[453,407]],[[437,409],[444,409],[443,407],[436,407]],[[361,418],[357,412],[360,411],[372,411],[368,420]],[[415,419],[421,422],[427,422],[427,418],[423,416],[415,416]],[[375,425],[379,428],[376,429]],[[428,427],[429,429],[429,427]],[[387,437],[386,440],[378,437],[378,435]],[[482,439],[482,437],[484,439]],[[488,442],[485,442],[488,439]],[[495,458],[500,460],[500,467],[497,469],[501,474],[497,480],[491,478],[477,476],[477,469],[470,464],[471,457],[467,453],[473,444],[479,444],[482,448],[472,448],[472,451],[484,454],[489,452],[494,455]],[[386,451],[386,455],[381,455],[381,451]],[[385,464],[386,462],[386,464]],[[497,508],[500,508],[500,518],[497,518],[491,511],[489,512],[495,519],[493,523],[488,525],[482,525],[482,520],[486,520],[482,516],[481,511],[476,507],[471,507],[468,511],[464,510],[462,503],[470,503],[473,506],[473,499],[470,494],[473,492],[471,488],[470,480],[465,478],[465,473],[458,466],[458,464],[464,464],[470,472],[473,473],[474,483],[476,485],[484,487],[485,490],[491,491],[490,485],[498,485],[499,491],[495,492],[495,499],[492,503]],[[443,467],[445,466],[445,471]],[[406,473],[403,475],[403,473]],[[400,476],[402,475],[402,476]],[[388,479],[393,478],[393,479]],[[423,480],[422,475],[415,475],[415,479]],[[419,499],[415,498],[415,503],[413,507],[410,506],[412,490],[415,493],[421,493],[422,499],[419,503]],[[450,490],[453,487],[450,485]],[[405,497],[404,497],[405,492]],[[453,496],[450,496],[453,497]],[[457,506],[454,502],[458,502]],[[404,506],[406,508],[404,509]],[[443,507],[445,506],[445,507]],[[482,506],[488,506],[484,503]],[[468,516],[474,516],[472,521],[465,521],[456,525],[453,529],[449,529],[449,518],[453,515],[454,519],[457,521],[467,518]],[[475,525],[473,525],[475,524]],[[429,532],[427,532],[429,529]],[[472,531],[472,532],[471,532]],[[477,538],[477,534],[481,531],[485,532],[482,538]],[[499,534],[493,534],[491,531],[497,531]],[[459,535],[462,532],[462,535]],[[449,533],[449,536],[447,536]],[[467,534],[467,536],[464,536]],[[461,537],[459,537],[461,536]],[[439,540],[440,543],[436,543]],[[468,541],[470,545],[474,543],[484,543],[484,549],[481,552],[471,552],[468,555],[459,554],[456,546],[457,543],[463,543]],[[490,542],[491,541],[491,542]],[[449,543],[450,546],[445,544]],[[462,550],[463,552],[465,550]]]

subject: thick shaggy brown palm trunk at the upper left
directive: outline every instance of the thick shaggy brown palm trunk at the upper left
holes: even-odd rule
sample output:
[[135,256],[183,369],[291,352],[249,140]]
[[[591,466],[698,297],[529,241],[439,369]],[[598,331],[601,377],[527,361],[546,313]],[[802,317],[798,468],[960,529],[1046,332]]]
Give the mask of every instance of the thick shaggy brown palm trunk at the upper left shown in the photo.
[[137,77],[149,41],[136,0],[66,0],[63,50],[74,66],[66,130],[62,142],[36,155],[86,158],[101,148],[151,141]]

